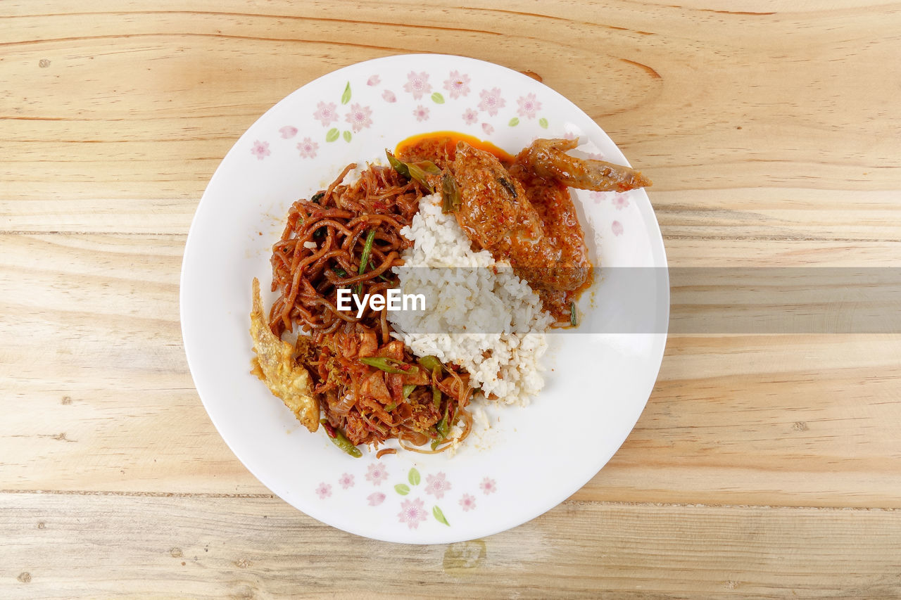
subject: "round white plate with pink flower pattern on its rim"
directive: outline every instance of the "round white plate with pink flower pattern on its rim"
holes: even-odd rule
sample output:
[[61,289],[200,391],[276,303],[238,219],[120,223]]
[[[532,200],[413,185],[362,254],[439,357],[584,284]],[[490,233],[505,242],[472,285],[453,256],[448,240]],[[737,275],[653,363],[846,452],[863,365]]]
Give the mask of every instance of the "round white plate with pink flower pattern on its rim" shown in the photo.
[[[443,55],[369,60],[306,84],[241,136],[207,186],[185,248],[182,333],[216,429],[288,503],[378,540],[470,540],[558,505],[632,430],[666,341],[665,333],[551,335],[542,395],[528,407],[494,411],[491,429],[475,433],[454,457],[402,451],[377,460],[364,450],[352,459],[322,431],[300,426],[250,375],[250,279],[259,277],[268,290],[270,247],[296,198],[326,186],[349,162],[384,161],[384,149],[405,137],[442,130],[511,152],[536,137],[577,135],[583,155],[625,164],[578,107],[516,71]],[[595,264],[666,267],[644,190],[579,191],[578,199]],[[663,283],[658,294],[669,306]],[[604,294],[603,282],[594,292]],[[596,310],[590,295],[583,295],[583,312]],[[666,323],[657,331],[666,332]]]

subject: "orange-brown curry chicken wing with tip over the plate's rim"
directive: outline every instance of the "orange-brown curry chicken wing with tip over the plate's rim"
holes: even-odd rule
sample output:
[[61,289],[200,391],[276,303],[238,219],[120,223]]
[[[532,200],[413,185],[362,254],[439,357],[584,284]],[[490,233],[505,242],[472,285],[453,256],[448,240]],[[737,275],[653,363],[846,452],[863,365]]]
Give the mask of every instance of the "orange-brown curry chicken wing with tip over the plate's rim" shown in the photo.
[[490,152],[459,141],[450,162],[460,191],[460,227],[496,259],[509,260],[558,321],[569,320],[572,295],[591,268],[569,187],[625,191],[651,185],[633,168],[566,154],[577,144],[536,140],[505,168]]

